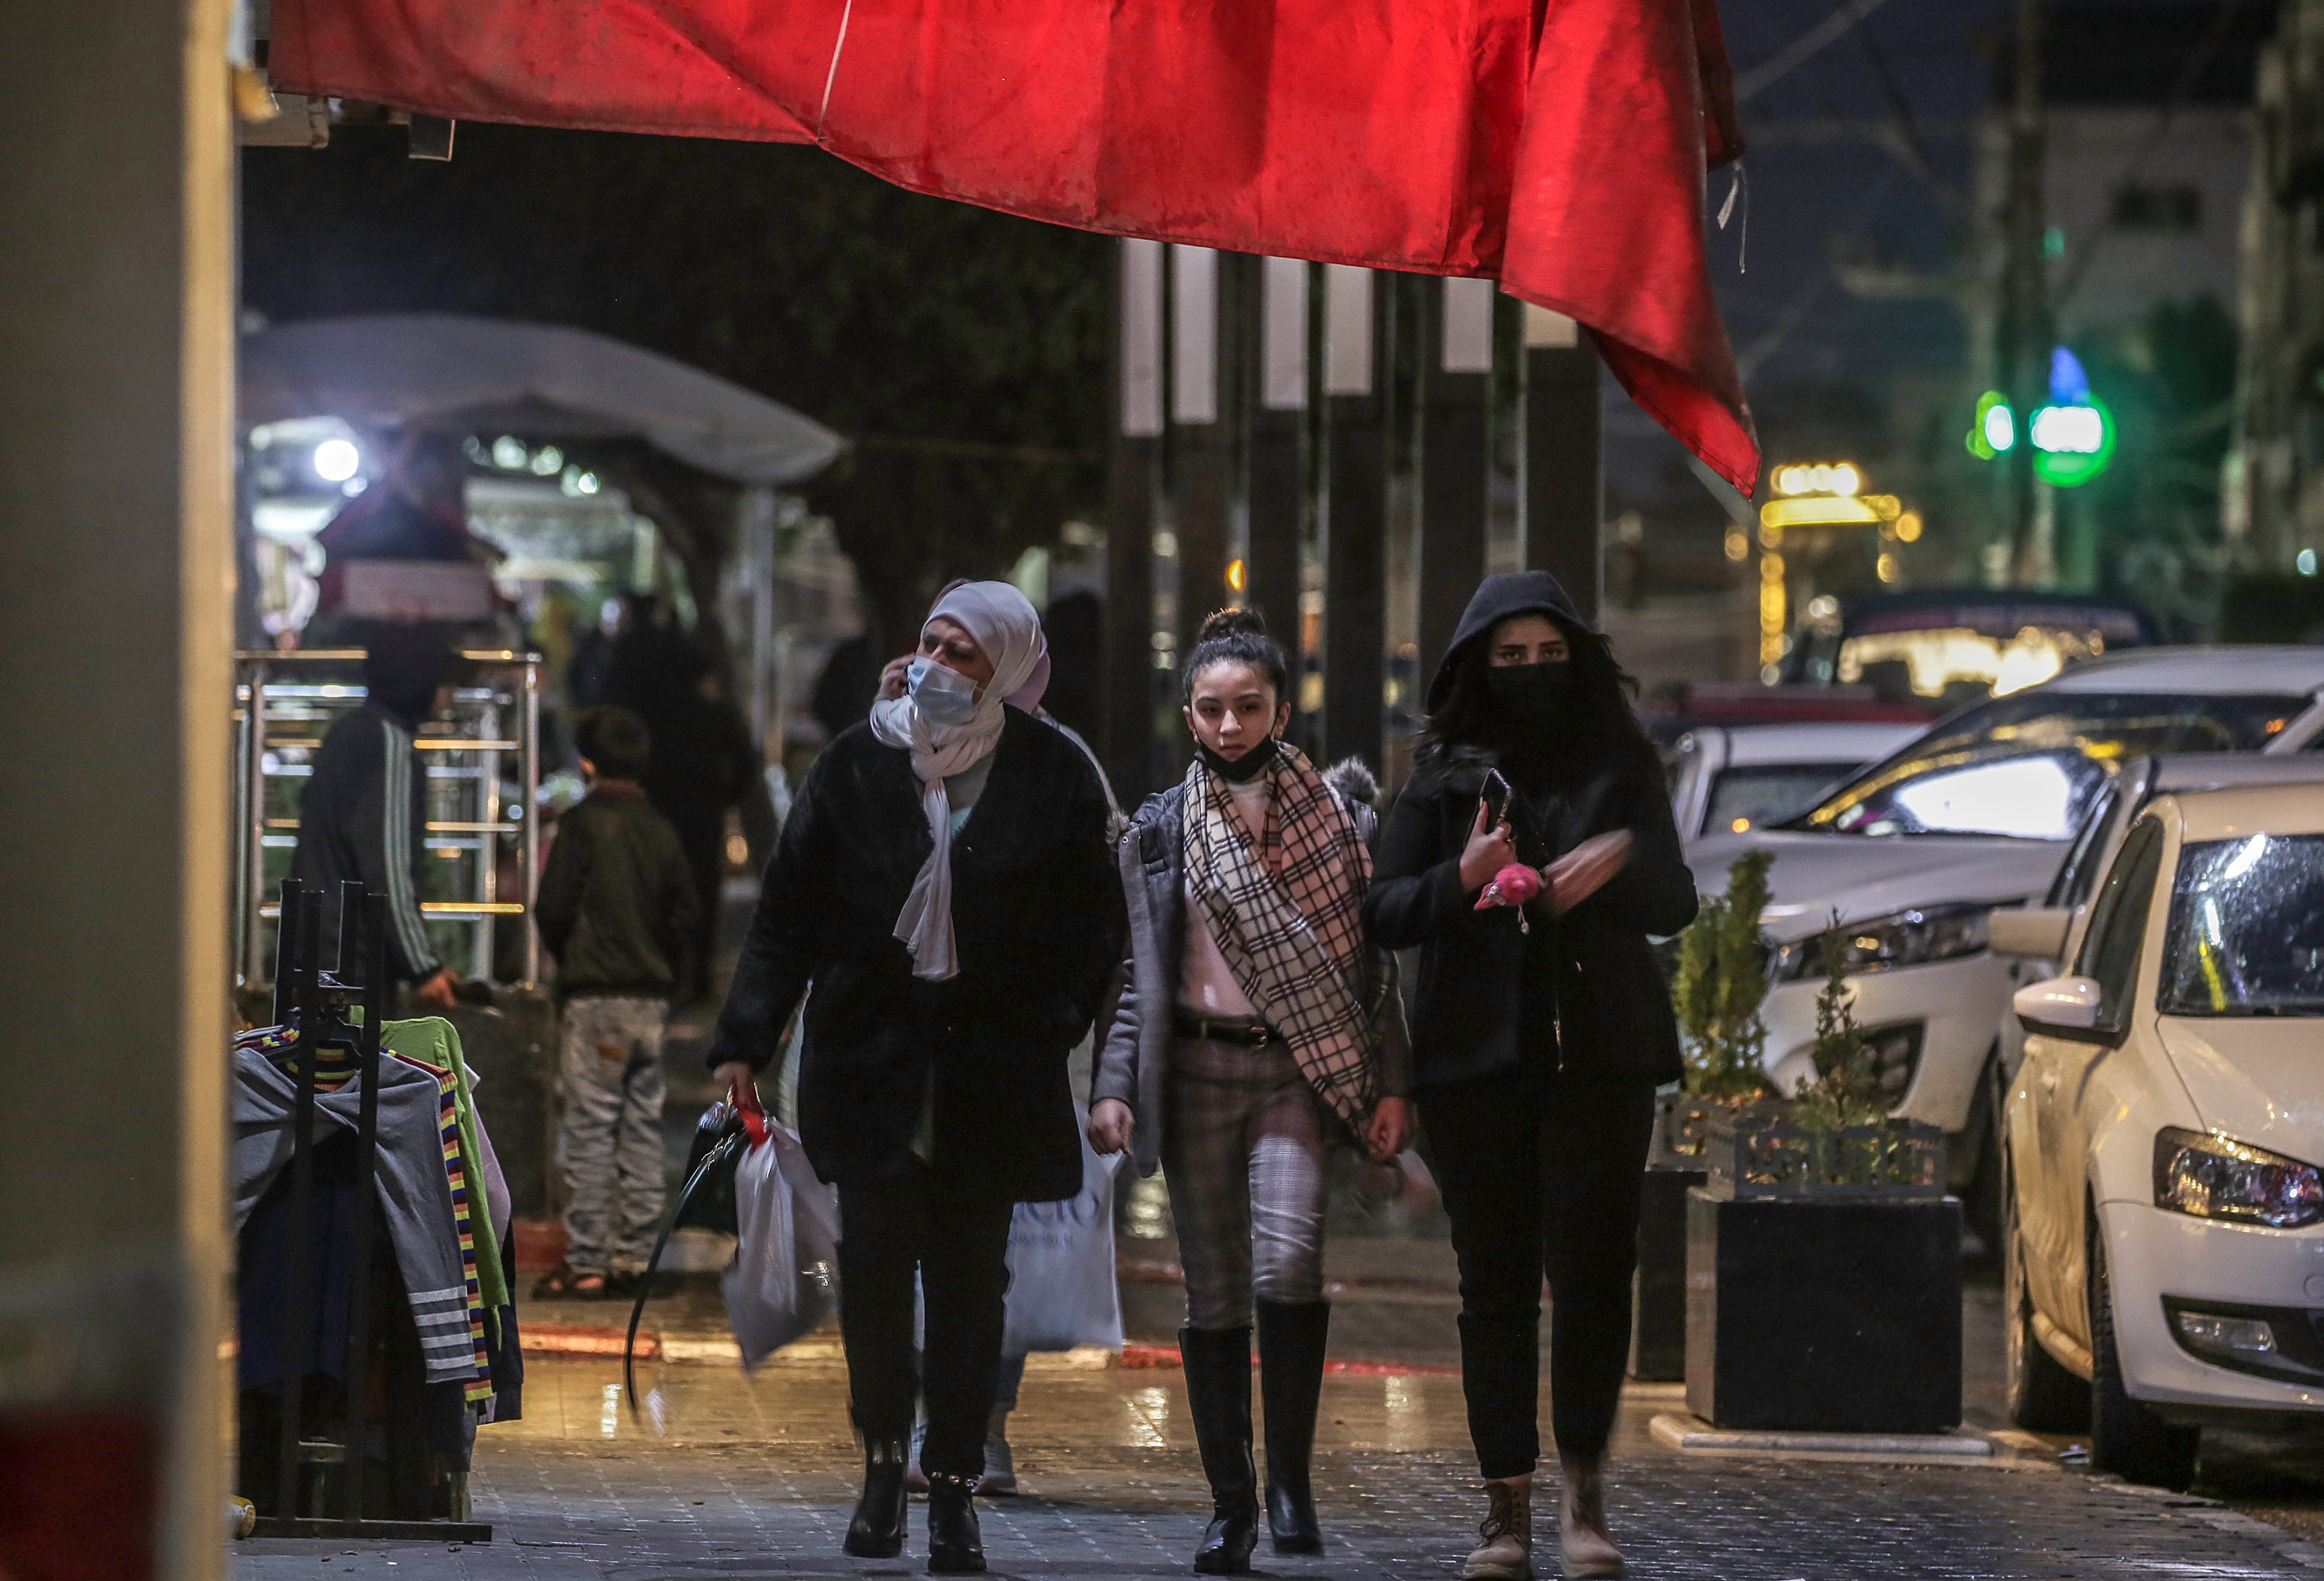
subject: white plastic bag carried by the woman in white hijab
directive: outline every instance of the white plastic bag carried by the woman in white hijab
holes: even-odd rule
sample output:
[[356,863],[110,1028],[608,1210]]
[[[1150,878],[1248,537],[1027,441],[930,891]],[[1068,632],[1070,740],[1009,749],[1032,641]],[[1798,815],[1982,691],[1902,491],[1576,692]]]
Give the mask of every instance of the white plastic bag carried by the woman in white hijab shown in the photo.
[[[813,1332],[839,1293],[839,1204],[799,1139],[748,1116],[751,1149],[734,1165],[734,1260],[718,1281],[741,1365]],[[765,1128],[765,1139],[760,1130]]]

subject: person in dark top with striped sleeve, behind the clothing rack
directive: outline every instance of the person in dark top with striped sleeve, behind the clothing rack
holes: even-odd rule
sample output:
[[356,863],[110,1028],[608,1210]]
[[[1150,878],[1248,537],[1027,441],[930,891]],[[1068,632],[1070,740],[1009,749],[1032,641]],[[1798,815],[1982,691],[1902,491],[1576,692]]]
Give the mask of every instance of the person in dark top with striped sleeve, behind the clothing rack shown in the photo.
[[365,637],[363,707],[342,714],[314,756],[290,872],[323,893],[323,963],[339,953],[339,884],[353,879],[386,895],[388,977],[409,983],[428,1011],[446,1011],[456,979],[435,958],[421,916],[428,767],[414,737],[423,721],[451,709],[460,658],[411,628],[383,625]]

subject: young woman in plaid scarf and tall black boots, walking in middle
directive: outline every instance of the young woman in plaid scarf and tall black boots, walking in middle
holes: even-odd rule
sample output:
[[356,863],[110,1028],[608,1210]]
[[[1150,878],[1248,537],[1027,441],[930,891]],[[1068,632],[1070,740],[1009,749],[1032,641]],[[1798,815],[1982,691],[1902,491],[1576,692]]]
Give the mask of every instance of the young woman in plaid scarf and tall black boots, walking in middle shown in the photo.
[[1167,1165],[1213,1504],[1199,1574],[1246,1572],[1257,1546],[1253,1316],[1267,1525],[1278,1553],[1322,1548],[1308,1446],[1332,1318],[1325,1162],[1343,1139],[1385,1162],[1411,1137],[1394,963],[1362,923],[1371,774],[1318,774],[1283,739],[1287,693],[1257,614],[1204,621],[1185,663],[1195,763],[1122,837],[1127,981],[1090,1086],[1090,1144],[1134,1151],[1148,1174]]

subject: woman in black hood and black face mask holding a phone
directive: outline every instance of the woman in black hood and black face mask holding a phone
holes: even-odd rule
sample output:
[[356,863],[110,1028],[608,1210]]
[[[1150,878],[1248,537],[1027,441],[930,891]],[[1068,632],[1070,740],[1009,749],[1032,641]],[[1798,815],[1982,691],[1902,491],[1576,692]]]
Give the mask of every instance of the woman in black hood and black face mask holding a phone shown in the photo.
[[[1532,1576],[1543,1279],[1564,1572],[1622,1574],[1606,1442],[1655,1086],[1680,1074],[1648,937],[1678,932],[1697,907],[1624,684],[1555,579],[1487,577],[1429,684],[1364,909],[1380,946],[1420,951],[1413,1088],[1452,1218],[1462,1390],[1487,1493],[1466,1581]],[[1538,874],[1522,907],[1497,884],[1511,865]]]

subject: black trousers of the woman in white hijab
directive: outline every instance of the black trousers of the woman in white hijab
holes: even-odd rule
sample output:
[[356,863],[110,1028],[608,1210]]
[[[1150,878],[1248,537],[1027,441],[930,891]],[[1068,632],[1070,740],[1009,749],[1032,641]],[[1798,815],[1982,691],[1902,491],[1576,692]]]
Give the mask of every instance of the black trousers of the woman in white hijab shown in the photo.
[[[911,1439],[927,1400],[920,1467],[976,1479],[1002,1360],[1009,1221],[1016,1204],[920,1165],[839,1186],[839,1335],[848,1395],[867,1444]],[[913,1288],[913,1274],[920,1288]],[[927,1300],[925,1367],[913,1346],[916,1295]]]

